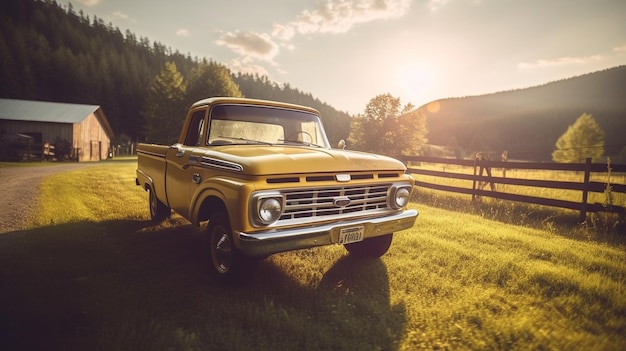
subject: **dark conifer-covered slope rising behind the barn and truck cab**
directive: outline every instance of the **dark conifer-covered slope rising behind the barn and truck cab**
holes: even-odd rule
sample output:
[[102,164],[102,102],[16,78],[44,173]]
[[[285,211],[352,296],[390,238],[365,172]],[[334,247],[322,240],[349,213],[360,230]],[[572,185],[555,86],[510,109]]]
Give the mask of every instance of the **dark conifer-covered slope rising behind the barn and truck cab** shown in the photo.
[[[142,141],[142,108],[167,62],[188,78],[206,58],[122,32],[53,0],[0,2],[0,97],[100,105],[115,135]],[[232,74],[242,95],[318,109],[331,142],[347,138],[350,116],[289,84]],[[208,96],[207,96],[208,97]]]

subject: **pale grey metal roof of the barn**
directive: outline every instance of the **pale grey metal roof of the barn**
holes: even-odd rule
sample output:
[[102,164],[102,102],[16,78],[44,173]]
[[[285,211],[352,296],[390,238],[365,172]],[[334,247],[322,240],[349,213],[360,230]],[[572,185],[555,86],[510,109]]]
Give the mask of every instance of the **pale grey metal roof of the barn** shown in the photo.
[[113,130],[98,105],[0,99],[0,119],[73,124],[81,123],[92,113],[96,115],[106,133],[112,138]]

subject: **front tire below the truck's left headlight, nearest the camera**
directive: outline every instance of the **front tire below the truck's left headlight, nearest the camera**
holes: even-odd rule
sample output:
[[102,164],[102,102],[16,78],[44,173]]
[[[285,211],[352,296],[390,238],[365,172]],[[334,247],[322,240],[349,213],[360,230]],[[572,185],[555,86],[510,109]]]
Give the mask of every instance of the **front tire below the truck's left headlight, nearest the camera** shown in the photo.
[[228,216],[216,212],[207,225],[209,256],[212,273],[229,283],[245,282],[254,273],[254,260],[243,255],[235,246]]

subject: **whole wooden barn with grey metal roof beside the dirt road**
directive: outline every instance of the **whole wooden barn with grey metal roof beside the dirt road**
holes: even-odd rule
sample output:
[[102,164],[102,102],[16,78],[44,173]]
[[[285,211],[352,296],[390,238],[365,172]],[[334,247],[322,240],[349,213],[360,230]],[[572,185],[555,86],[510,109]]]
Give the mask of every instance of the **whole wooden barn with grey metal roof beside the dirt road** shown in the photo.
[[104,160],[112,138],[100,106],[0,99],[0,139],[5,148],[27,145],[20,159]]

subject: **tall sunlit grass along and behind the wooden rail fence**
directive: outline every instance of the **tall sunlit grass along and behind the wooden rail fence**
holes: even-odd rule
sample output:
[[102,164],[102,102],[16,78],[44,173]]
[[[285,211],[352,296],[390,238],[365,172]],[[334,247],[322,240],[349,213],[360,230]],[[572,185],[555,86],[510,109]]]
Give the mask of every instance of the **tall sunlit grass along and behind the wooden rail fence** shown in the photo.
[[[473,167],[426,163],[419,165],[419,167],[416,165],[412,167],[466,175],[472,175],[474,173]],[[503,170],[494,168],[492,175],[494,177],[502,177]],[[472,189],[473,187],[471,180],[426,175],[416,175],[416,177],[420,181],[430,184],[465,189]],[[514,169],[506,172],[506,178],[582,183],[584,174],[582,172]],[[608,176],[606,173],[592,173],[591,181],[611,185],[623,185],[626,184],[626,174],[611,172],[610,176]],[[498,192],[509,194],[573,202],[582,201],[582,192],[576,190],[549,189],[509,184],[496,184],[495,187]],[[489,188],[490,187],[485,184],[483,189],[488,190]],[[626,207],[626,194],[624,193],[605,191],[604,193],[589,192],[588,195],[587,203],[589,204],[600,203]],[[418,198],[421,202],[436,207],[479,214],[485,218],[497,219],[511,224],[532,226],[550,232],[556,232],[557,227],[565,227],[566,232],[564,232],[564,228],[560,228],[559,230],[562,235],[570,238],[626,243],[626,217],[615,213],[587,213],[587,220],[584,223],[578,223],[578,212],[575,210],[512,202],[487,196],[480,197],[478,201],[469,201],[471,195],[420,188]]]

